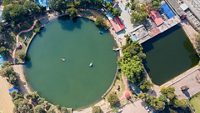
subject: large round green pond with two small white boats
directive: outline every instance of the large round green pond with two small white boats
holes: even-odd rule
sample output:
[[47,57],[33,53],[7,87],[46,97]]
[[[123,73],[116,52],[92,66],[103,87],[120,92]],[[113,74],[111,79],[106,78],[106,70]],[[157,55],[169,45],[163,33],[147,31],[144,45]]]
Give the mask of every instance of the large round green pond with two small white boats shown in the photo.
[[54,20],[30,45],[31,61],[24,67],[27,80],[33,90],[53,104],[86,107],[101,99],[114,80],[114,45],[109,33],[100,34],[87,19]]

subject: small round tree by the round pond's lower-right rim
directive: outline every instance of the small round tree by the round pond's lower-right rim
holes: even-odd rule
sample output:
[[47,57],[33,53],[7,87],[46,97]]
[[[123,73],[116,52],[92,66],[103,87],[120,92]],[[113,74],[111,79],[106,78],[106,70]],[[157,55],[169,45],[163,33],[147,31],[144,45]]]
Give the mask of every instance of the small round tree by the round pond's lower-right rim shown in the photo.
[[111,107],[115,107],[119,103],[119,98],[117,97],[117,94],[111,93],[108,98],[108,102],[110,103]]

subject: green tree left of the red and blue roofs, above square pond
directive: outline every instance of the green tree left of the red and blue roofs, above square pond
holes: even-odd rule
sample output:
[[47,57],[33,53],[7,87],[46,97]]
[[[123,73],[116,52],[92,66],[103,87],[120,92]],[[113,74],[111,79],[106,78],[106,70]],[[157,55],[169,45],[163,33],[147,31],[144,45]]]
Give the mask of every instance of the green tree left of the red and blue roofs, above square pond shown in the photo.
[[137,4],[131,13],[132,23],[142,23],[146,20],[148,12],[144,4]]

